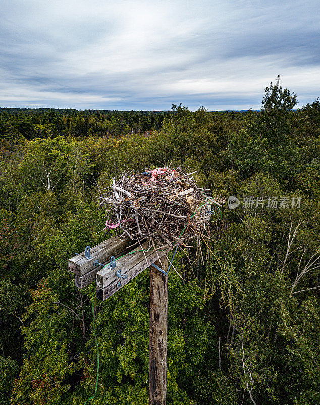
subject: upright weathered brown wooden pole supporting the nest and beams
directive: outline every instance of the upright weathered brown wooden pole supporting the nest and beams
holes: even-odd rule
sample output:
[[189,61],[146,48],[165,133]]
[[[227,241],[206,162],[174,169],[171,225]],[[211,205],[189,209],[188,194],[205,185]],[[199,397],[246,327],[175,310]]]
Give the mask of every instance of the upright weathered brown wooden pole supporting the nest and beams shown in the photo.
[[[168,258],[156,261],[168,271]],[[166,405],[168,276],[150,266],[149,405]]]

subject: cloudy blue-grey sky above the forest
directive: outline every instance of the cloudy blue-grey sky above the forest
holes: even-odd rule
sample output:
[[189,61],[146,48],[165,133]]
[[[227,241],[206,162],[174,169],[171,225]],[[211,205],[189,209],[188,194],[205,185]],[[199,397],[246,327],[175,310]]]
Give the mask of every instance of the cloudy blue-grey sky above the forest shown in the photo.
[[1,0],[0,106],[258,109],[320,96],[320,13],[305,0]]

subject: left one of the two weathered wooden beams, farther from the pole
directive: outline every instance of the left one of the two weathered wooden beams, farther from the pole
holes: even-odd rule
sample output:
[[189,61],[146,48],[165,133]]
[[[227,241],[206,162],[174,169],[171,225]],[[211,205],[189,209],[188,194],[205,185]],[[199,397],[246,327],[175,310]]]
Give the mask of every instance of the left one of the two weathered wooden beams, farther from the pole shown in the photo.
[[69,259],[68,268],[78,277],[82,277],[94,269],[98,271],[101,269],[101,266],[94,266],[93,263],[95,260],[106,264],[111,256],[119,255],[132,243],[131,240],[119,236],[104,240],[104,242],[101,242],[99,245],[93,246],[90,249],[91,259],[86,259],[84,252],[82,252]]

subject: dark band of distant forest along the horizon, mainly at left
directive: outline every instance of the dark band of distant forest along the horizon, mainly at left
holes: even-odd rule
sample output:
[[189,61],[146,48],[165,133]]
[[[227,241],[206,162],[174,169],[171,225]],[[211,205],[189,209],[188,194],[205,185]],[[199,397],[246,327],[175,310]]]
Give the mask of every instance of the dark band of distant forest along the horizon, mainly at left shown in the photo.
[[[31,140],[58,135],[81,137],[149,135],[151,131],[158,131],[163,120],[177,113],[178,108],[182,107],[174,106],[172,111],[0,108],[0,138],[13,142],[19,137]],[[232,117],[239,115],[237,112],[229,114]]]

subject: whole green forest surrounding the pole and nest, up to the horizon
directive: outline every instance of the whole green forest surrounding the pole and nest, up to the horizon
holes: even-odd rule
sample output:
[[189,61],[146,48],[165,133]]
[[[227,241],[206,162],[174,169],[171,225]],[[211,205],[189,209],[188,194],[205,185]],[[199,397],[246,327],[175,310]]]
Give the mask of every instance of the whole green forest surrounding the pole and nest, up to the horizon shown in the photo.
[[175,256],[168,403],[320,402],[320,101],[296,105],[278,78],[245,113],[0,109],[0,404],[84,405],[92,301],[90,403],[148,403],[149,270],[102,303],[67,268],[112,236],[99,190],[170,162],[239,205]]

